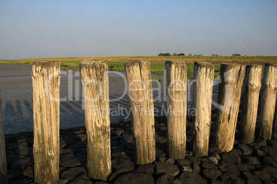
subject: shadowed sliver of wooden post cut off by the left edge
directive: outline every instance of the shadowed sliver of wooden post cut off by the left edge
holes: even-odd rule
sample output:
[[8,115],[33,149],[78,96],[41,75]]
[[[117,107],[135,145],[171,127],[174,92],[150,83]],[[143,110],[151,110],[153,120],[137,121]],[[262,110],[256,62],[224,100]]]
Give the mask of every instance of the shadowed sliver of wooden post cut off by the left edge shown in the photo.
[[6,146],[0,97],[0,183],[8,184],[8,168],[6,161]]

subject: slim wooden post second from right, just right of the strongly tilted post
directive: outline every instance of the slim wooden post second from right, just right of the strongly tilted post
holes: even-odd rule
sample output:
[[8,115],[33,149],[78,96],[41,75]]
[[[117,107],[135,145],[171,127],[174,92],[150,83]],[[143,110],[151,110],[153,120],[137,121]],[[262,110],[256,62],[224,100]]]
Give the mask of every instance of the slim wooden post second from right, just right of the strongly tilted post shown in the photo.
[[258,98],[260,94],[261,65],[247,65],[245,71],[243,111],[240,124],[240,142],[253,143],[258,114]]

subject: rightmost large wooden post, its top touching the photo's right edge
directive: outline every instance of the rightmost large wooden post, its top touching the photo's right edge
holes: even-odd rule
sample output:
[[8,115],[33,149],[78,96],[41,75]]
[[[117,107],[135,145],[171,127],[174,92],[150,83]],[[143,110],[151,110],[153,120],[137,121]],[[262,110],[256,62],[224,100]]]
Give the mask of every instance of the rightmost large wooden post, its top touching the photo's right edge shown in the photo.
[[277,65],[265,64],[260,93],[258,133],[260,137],[271,139],[277,94]]

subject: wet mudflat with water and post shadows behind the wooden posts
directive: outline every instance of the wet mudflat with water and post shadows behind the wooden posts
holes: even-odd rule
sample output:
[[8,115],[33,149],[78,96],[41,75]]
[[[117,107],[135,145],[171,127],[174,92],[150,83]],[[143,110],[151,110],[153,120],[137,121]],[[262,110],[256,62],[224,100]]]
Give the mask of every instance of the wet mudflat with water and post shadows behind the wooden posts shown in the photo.
[[[31,71],[32,65],[0,64],[0,95],[5,134],[33,130]],[[61,69],[61,73],[61,98],[66,100],[61,102],[60,128],[85,126],[79,69]],[[109,72],[111,123],[132,119],[125,82],[125,72]],[[158,83],[161,91],[154,91],[154,104],[161,109],[165,105],[165,97],[163,82]],[[153,83],[153,87],[158,87],[158,84]]]

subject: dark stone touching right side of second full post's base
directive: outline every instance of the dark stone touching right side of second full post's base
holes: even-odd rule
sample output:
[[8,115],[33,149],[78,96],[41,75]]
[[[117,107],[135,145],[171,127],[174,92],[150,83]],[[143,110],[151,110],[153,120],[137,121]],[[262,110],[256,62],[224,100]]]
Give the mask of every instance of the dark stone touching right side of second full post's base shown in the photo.
[[135,170],[134,162],[119,157],[112,159],[112,168],[116,171],[116,174]]

